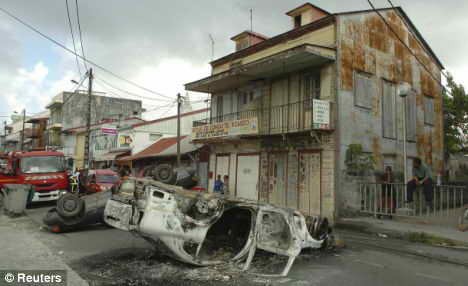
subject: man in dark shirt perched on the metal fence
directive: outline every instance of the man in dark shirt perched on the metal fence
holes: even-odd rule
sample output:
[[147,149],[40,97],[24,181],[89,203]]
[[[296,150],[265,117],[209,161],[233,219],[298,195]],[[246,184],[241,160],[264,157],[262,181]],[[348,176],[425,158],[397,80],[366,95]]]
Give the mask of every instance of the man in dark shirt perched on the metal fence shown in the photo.
[[429,207],[432,206],[434,184],[432,181],[431,171],[419,158],[414,158],[413,160],[413,176],[413,179],[407,184],[407,202],[413,202],[414,191],[418,186],[422,186],[426,203]]

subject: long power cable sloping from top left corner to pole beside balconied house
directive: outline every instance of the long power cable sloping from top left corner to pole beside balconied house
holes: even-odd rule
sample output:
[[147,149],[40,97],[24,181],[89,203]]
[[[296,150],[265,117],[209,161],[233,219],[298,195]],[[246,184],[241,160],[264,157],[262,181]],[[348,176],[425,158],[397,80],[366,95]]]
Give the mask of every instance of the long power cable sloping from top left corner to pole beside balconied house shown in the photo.
[[35,33],[39,34],[39,35],[42,36],[43,38],[45,38],[45,39],[51,41],[52,43],[56,44],[57,46],[61,47],[61,48],[64,49],[64,50],[66,50],[67,52],[69,52],[69,53],[71,53],[71,54],[73,54],[73,55],[79,57],[79,58],[82,59],[83,61],[85,61],[85,62],[87,62],[87,63],[89,63],[89,64],[91,64],[91,65],[97,67],[98,69],[100,69],[100,70],[102,70],[102,71],[104,71],[104,72],[106,72],[106,73],[108,73],[108,74],[110,74],[110,75],[112,75],[112,76],[114,76],[114,77],[116,77],[116,78],[122,80],[122,81],[125,81],[125,82],[127,82],[128,84],[131,84],[131,85],[133,85],[133,86],[135,86],[135,87],[138,87],[138,88],[140,88],[140,89],[142,89],[142,90],[145,90],[145,91],[147,91],[147,92],[149,92],[149,93],[152,93],[152,94],[155,94],[155,95],[157,95],[157,96],[164,97],[164,98],[168,98],[168,99],[173,99],[172,97],[169,97],[169,96],[164,95],[164,94],[162,94],[162,93],[159,93],[159,92],[157,92],[157,91],[154,91],[154,90],[151,90],[151,89],[146,88],[146,87],[144,87],[144,86],[141,86],[141,85],[139,85],[139,84],[137,84],[137,83],[135,83],[135,82],[133,82],[133,81],[131,81],[131,80],[128,80],[128,79],[126,79],[126,78],[124,78],[124,77],[122,77],[122,76],[120,76],[120,75],[118,75],[118,74],[112,72],[111,70],[109,70],[109,69],[107,69],[107,68],[105,68],[105,67],[103,67],[103,66],[101,66],[101,65],[99,65],[99,64],[97,64],[97,63],[95,63],[94,61],[89,60],[89,59],[85,58],[84,56],[81,56],[81,55],[79,55],[79,54],[73,52],[72,50],[70,50],[69,48],[67,48],[64,44],[62,44],[62,43],[60,43],[60,42],[58,42],[58,41],[52,39],[51,37],[49,37],[49,36],[47,36],[46,34],[42,33],[41,31],[39,31],[38,29],[34,28],[34,27],[31,26],[30,24],[28,24],[28,23],[26,23],[25,21],[21,20],[20,18],[16,17],[16,16],[13,15],[12,13],[10,13],[9,11],[5,10],[4,8],[0,7],[0,11],[2,11],[3,13],[5,13],[6,15],[10,16],[11,18],[13,18],[15,21],[17,21],[17,22],[21,23],[22,25],[26,26],[26,27],[29,28],[30,30],[34,31]]

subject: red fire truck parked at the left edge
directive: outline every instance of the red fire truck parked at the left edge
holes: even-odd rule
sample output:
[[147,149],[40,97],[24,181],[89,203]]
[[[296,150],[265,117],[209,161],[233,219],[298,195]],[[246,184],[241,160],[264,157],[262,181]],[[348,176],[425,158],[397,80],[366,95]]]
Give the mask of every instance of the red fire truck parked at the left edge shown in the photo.
[[10,152],[0,161],[0,188],[4,184],[34,185],[33,202],[56,200],[68,190],[63,153]]

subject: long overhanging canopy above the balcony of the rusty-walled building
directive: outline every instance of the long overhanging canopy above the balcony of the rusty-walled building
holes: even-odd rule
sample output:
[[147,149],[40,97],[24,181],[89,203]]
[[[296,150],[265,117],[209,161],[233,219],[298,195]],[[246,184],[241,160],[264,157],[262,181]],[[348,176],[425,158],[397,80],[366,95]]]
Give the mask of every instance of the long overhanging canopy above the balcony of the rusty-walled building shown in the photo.
[[245,85],[250,81],[319,67],[333,61],[335,61],[334,49],[304,44],[188,83],[185,89],[206,93],[219,92]]

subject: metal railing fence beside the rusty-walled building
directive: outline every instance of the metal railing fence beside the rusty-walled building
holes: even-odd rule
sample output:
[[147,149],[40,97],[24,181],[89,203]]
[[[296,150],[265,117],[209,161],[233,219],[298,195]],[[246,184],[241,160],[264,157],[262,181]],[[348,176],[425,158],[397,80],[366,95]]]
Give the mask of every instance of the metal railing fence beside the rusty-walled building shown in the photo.
[[374,216],[451,216],[468,203],[465,186],[434,186],[432,201],[422,187],[407,202],[406,184],[359,183],[361,212]]

